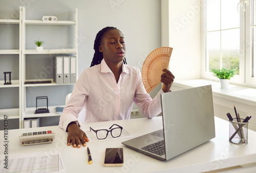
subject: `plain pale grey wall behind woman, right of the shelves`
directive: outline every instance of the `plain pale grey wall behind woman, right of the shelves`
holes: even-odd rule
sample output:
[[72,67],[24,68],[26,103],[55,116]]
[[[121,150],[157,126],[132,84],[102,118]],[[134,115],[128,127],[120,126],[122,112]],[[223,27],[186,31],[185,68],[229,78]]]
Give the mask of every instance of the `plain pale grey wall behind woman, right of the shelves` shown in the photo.
[[78,8],[78,35],[80,41],[79,74],[90,66],[93,43],[99,30],[106,26],[117,27],[126,41],[126,61],[142,67],[145,57],[160,46],[160,1],[58,1]]

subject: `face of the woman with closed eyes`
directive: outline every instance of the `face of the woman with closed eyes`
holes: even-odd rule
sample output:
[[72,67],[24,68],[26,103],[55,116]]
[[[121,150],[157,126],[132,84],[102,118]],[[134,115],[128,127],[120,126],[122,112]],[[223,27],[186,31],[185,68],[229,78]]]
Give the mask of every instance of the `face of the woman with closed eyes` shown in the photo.
[[99,52],[102,52],[107,64],[122,62],[125,57],[125,43],[122,33],[119,30],[110,30],[105,33],[99,46]]

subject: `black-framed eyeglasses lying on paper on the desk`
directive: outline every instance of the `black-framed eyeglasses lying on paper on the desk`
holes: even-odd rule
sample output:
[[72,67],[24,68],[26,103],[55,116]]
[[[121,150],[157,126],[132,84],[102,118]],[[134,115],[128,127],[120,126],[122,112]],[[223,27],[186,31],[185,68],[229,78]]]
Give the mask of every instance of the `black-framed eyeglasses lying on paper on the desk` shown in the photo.
[[[118,126],[118,128],[111,129],[113,126]],[[117,138],[121,135],[123,128],[119,125],[114,124],[109,129],[111,130],[106,130],[106,129],[93,130],[93,128],[90,127],[90,131],[94,131],[98,139],[105,139],[106,137],[108,137],[109,132],[111,133],[111,136],[113,138]]]

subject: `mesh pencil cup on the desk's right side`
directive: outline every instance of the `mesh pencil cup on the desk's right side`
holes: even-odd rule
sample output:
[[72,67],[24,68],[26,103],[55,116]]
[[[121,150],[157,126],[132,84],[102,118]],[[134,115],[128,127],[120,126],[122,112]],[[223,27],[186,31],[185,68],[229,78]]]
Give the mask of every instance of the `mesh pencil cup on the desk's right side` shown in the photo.
[[247,144],[248,143],[248,123],[243,122],[243,118],[240,118],[241,122],[236,122],[237,118],[233,118],[233,121],[229,120],[229,142],[234,144]]

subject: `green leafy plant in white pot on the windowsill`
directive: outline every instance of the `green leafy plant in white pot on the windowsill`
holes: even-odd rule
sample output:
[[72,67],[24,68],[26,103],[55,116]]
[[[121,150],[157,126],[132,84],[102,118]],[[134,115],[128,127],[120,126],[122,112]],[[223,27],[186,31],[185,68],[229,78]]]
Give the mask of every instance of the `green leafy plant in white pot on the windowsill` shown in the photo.
[[214,76],[220,79],[221,83],[221,88],[228,88],[228,83],[230,78],[234,77],[237,73],[237,67],[232,67],[232,68],[224,68],[222,69],[212,69],[211,72],[214,73]]

